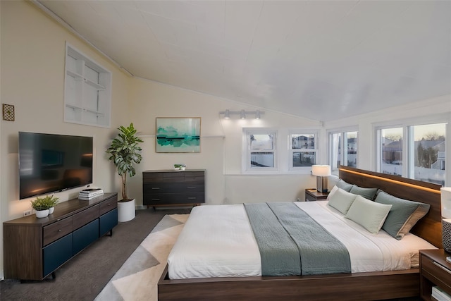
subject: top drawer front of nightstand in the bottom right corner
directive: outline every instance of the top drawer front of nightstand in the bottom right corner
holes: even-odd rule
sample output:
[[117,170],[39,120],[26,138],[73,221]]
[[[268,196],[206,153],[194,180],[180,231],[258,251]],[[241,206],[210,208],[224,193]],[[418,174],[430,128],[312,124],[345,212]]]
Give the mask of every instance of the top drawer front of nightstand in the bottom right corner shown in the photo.
[[446,293],[451,294],[451,269],[421,254],[421,273]]

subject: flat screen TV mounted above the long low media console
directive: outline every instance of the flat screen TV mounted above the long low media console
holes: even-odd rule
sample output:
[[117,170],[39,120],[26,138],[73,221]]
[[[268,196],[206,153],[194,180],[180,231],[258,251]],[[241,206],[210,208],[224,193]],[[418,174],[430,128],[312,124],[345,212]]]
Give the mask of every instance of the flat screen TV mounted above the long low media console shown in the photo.
[[92,137],[19,132],[19,198],[92,183]]

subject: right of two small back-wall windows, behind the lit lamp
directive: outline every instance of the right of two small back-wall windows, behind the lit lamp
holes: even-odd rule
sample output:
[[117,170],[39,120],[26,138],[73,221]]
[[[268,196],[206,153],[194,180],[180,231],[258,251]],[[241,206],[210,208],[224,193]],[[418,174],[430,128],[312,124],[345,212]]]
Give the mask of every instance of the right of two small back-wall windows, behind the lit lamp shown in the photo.
[[316,131],[290,133],[290,169],[300,169],[316,164],[318,139]]

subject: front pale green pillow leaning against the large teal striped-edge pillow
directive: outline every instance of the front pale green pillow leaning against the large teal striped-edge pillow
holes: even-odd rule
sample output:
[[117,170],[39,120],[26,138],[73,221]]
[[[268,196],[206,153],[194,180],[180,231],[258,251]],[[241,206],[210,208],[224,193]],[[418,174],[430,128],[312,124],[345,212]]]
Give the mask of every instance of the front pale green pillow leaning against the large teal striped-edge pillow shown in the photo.
[[377,234],[383,226],[392,205],[380,204],[357,195],[346,218],[355,221],[371,233]]

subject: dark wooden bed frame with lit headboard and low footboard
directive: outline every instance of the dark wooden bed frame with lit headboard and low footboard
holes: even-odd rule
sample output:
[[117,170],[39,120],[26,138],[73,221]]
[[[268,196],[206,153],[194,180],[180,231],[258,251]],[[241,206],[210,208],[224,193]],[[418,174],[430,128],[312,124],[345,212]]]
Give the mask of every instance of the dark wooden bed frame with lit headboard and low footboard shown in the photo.
[[[347,183],[431,204],[412,233],[442,247],[440,185],[340,166]],[[419,269],[317,276],[260,276],[171,280],[168,266],[158,300],[385,300],[419,296]]]

